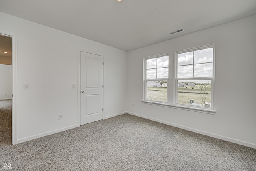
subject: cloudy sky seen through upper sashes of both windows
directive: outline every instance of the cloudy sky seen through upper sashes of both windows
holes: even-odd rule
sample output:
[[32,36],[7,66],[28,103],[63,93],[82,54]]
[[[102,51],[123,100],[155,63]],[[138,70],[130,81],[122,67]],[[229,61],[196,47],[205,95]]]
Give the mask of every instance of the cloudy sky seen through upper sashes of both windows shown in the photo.
[[[146,78],[168,78],[169,56],[146,60]],[[213,48],[178,54],[177,78],[198,78],[213,76]]]

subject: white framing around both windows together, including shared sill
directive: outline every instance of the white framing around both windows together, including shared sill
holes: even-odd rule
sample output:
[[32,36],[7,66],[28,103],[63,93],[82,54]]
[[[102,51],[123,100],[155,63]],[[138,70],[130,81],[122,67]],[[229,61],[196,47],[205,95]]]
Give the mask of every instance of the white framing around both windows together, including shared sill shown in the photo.
[[[177,80],[193,80],[192,78],[177,78],[177,59],[176,54],[178,53],[184,53],[184,52],[190,52],[195,50],[201,50],[205,48],[211,48],[213,47],[213,73],[212,77],[207,78],[193,78],[194,80],[211,80],[211,107],[200,107],[200,106],[192,106],[192,105],[183,105],[176,103],[177,94],[178,94],[178,83],[176,83]],[[200,113],[208,113],[208,114],[214,114],[216,112],[214,107],[214,80],[215,80],[215,44],[208,44],[204,46],[198,46],[195,48],[189,48],[185,50],[180,50],[174,52],[173,56],[173,64],[171,62],[172,57],[169,56],[169,76],[168,79],[146,79],[146,60],[151,58],[159,58],[162,56],[169,56],[169,53],[159,54],[155,56],[148,56],[146,58],[143,58],[143,96],[142,96],[142,102],[145,104],[150,105],[156,105],[156,106],[162,106],[162,107],[170,107],[174,109],[182,109],[182,110],[188,110],[188,111],[196,111]],[[171,65],[170,65],[171,64]],[[170,68],[173,67],[173,70]],[[171,75],[172,74],[172,75]],[[167,80],[167,102],[162,101],[153,101],[153,100],[147,100],[146,97],[146,81],[161,81],[161,80]],[[170,86],[173,85],[173,86]]]

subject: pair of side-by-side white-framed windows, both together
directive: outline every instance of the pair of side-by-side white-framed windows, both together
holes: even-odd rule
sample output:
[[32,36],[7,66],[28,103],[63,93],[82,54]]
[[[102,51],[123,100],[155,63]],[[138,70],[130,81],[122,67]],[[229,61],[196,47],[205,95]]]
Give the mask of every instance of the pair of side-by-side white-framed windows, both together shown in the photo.
[[168,54],[144,58],[142,101],[214,112],[214,58],[214,44],[174,52],[174,70]]

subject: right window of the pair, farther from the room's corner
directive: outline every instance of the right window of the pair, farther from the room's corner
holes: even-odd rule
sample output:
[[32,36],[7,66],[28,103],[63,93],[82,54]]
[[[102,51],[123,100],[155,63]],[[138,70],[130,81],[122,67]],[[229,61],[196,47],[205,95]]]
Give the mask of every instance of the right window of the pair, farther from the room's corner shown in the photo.
[[214,45],[174,53],[175,105],[213,109]]

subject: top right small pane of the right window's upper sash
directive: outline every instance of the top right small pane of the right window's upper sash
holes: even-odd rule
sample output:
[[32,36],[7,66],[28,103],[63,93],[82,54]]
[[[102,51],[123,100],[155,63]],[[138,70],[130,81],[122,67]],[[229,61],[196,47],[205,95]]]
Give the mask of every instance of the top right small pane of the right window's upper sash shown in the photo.
[[194,64],[213,62],[213,48],[194,51]]

